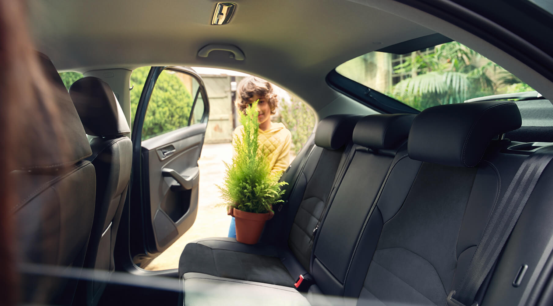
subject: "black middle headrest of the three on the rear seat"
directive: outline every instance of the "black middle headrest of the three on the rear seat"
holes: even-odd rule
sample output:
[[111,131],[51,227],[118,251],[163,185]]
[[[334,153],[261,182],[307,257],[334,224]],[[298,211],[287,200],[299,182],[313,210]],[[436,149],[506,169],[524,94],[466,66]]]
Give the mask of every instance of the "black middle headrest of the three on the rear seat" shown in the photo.
[[369,115],[353,129],[353,143],[371,149],[394,149],[405,142],[416,115]]

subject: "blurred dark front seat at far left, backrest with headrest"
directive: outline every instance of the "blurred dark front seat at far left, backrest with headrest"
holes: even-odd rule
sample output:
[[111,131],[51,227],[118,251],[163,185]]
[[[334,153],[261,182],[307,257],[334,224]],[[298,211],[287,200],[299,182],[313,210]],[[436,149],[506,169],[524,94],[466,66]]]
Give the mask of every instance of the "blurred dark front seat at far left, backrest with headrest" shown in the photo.
[[[40,54],[39,61],[55,103],[53,116],[42,115],[47,117],[44,124],[33,124],[32,119],[22,123],[24,138],[18,148],[22,154],[11,172],[19,195],[13,213],[22,272],[21,302],[68,305],[92,227],[96,173],[85,160],[92,151],[58,71],[45,55]],[[48,113],[34,111],[29,118]],[[71,277],[55,276],[60,272]]]

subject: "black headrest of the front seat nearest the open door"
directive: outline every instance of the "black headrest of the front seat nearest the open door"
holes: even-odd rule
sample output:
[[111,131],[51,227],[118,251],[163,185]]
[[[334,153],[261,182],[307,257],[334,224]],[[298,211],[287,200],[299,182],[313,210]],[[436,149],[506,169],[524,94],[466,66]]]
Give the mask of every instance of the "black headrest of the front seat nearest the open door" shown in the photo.
[[131,132],[123,110],[106,82],[93,76],[83,77],[71,85],[69,95],[87,134],[122,136]]

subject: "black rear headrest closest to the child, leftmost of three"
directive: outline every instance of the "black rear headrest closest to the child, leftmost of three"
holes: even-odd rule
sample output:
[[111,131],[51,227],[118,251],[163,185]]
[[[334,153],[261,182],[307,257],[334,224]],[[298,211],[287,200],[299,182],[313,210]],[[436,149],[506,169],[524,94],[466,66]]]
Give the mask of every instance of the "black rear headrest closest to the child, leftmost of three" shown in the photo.
[[326,149],[340,149],[351,140],[353,128],[362,116],[332,115],[319,122],[315,144]]

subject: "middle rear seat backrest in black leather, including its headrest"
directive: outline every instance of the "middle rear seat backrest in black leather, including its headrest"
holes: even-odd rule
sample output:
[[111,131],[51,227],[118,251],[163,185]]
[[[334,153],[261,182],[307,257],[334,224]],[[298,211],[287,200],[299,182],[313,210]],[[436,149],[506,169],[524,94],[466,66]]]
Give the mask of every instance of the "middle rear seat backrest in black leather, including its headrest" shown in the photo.
[[369,115],[353,130],[354,153],[315,237],[311,274],[325,294],[342,295],[358,233],[415,115]]

